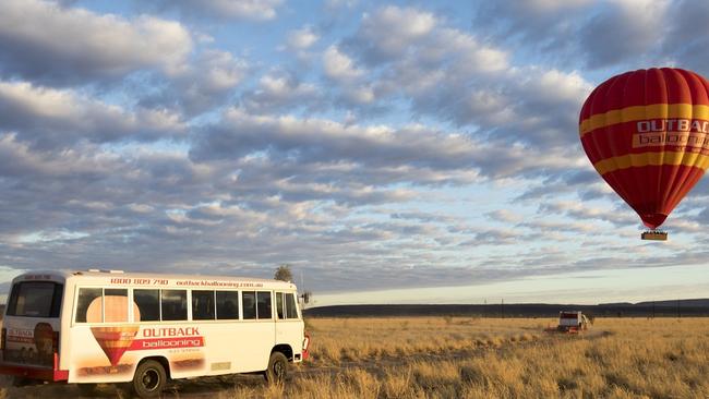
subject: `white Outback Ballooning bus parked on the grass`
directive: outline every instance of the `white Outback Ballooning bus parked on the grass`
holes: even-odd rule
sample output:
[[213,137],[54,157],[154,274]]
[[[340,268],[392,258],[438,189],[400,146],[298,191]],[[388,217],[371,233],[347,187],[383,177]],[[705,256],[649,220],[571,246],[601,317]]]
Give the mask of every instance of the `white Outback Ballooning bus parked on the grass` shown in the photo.
[[309,340],[290,282],[33,271],[12,281],[0,373],[77,384],[130,382],[146,398],[159,395],[170,378],[262,372],[269,382],[283,382],[289,362],[308,358]]

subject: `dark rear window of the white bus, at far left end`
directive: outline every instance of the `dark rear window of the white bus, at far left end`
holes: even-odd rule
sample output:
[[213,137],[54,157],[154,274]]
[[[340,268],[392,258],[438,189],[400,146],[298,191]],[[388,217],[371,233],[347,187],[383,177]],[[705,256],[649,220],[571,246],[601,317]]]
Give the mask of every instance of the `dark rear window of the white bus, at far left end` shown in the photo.
[[59,317],[64,286],[51,281],[22,281],[12,287],[8,315]]

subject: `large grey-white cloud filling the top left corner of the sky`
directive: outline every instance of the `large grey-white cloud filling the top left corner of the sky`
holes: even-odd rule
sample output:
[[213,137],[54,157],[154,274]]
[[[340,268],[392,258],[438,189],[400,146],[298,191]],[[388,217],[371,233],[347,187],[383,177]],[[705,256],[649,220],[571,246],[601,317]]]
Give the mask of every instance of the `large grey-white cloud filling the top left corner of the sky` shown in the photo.
[[0,13],[0,71],[47,85],[144,69],[172,73],[191,50],[182,25],[147,15],[128,20],[38,0],[9,0]]

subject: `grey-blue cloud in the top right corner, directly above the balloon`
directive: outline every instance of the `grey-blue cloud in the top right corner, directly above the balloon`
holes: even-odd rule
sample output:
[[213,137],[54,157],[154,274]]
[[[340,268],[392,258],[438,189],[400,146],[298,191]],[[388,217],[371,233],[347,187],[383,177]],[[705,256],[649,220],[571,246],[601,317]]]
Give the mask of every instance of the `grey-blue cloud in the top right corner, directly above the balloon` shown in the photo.
[[564,68],[678,65],[707,74],[699,55],[709,46],[708,16],[709,7],[692,0],[481,2],[473,32]]

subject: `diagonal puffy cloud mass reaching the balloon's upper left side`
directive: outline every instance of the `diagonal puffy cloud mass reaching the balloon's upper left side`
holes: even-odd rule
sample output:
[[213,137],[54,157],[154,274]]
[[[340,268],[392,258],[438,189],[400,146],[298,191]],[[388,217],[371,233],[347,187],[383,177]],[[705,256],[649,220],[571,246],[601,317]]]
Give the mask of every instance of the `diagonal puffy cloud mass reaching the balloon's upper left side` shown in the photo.
[[[395,19],[416,24],[392,27]],[[380,9],[328,51],[337,51],[345,60],[337,64],[347,66],[329,73],[339,77],[346,106],[365,109],[401,101],[410,105],[413,118],[468,126],[480,136],[533,148],[578,146],[573,134],[578,109],[592,88],[578,72],[514,66],[507,50],[429,12]],[[357,73],[354,60],[366,65],[365,78]],[[362,93],[359,101],[357,93]]]

